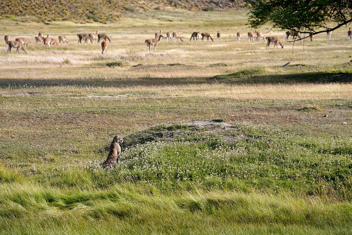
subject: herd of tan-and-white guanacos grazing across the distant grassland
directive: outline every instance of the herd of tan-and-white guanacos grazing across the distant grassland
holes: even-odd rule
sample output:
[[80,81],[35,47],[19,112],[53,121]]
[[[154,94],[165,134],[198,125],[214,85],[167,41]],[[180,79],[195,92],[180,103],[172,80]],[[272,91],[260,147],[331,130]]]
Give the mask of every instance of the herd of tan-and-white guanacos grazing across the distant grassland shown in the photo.
[[[327,32],[327,39],[331,38],[331,32],[332,30],[329,29],[329,31]],[[193,39],[193,41],[198,41],[199,39],[199,35],[202,36],[201,41],[203,42],[204,39],[206,38],[207,41],[209,41],[209,38],[213,40],[213,38],[210,36],[209,33],[205,32],[205,33],[200,33],[200,32],[193,32],[189,41],[191,41]],[[262,32],[248,32],[248,41],[249,42],[253,42],[255,40],[257,40],[257,42],[261,42],[262,40],[266,40],[266,49],[269,48],[270,43],[274,43],[274,48],[276,46],[276,48],[278,48],[277,44],[279,44],[281,46],[281,48],[283,48],[283,44],[282,42],[275,36],[271,36],[271,37],[265,37],[264,39],[264,35]],[[217,31],[216,33],[216,37],[217,40],[220,41],[220,36],[221,33],[219,31]],[[238,42],[243,42],[243,38],[242,38],[242,33],[238,32],[237,33],[237,41]],[[292,38],[295,40],[297,37],[301,39],[301,35],[298,32],[289,30],[286,32],[286,38],[285,40],[287,41],[288,38],[292,36]],[[96,33],[81,33],[81,34],[77,34],[78,37],[78,43],[82,43],[82,40],[84,40],[84,43],[89,43],[91,42],[92,44],[95,43],[96,40],[98,40],[98,43],[100,42],[100,40],[103,40],[101,42],[101,53],[105,54],[106,50],[107,50],[107,39],[109,40],[109,42],[111,42],[110,37],[106,34],[106,33],[99,33],[99,30],[96,31]],[[161,41],[161,38],[164,37],[162,35],[162,30],[160,30],[159,32],[155,33],[155,38],[152,39],[146,39],[145,43],[147,45],[147,51],[150,51],[150,47],[154,46],[153,51],[156,51],[156,46],[159,44],[159,42]],[[348,37],[348,41],[352,40],[352,31],[351,28],[349,28],[348,32],[347,32],[347,37]],[[313,41],[314,35],[310,34],[309,35],[310,41]],[[52,45],[58,45],[57,41],[54,38],[49,37],[49,34],[46,35],[46,37],[44,37],[44,34],[42,32],[38,33],[38,36],[34,37],[36,44],[39,43],[43,43],[43,47],[51,47]],[[62,36],[59,35],[58,36],[59,39],[59,43],[69,43],[68,39],[66,36]],[[180,39],[183,42],[183,38],[181,37],[180,33],[175,31],[175,32],[166,32],[166,40],[167,42],[169,42],[169,40],[171,42],[177,42],[178,39]],[[28,53],[28,42],[25,38],[23,37],[19,37],[16,38],[15,41],[10,41],[9,36],[5,35],[5,43],[8,45],[7,48],[7,53],[10,52],[11,53],[11,49],[15,48],[16,49],[16,53],[19,52],[19,49],[22,49],[26,54]],[[25,49],[26,46],[26,49]]]

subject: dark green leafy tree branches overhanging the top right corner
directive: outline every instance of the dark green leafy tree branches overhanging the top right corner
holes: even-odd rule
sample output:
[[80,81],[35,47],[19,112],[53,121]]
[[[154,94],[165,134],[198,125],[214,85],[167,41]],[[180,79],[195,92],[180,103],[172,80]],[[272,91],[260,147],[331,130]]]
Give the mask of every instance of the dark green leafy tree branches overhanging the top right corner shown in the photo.
[[334,21],[340,27],[352,21],[350,0],[330,1],[275,1],[247,0],[251,6],[249,23],[253,28],[271,23],[274,28],[297,32],[328,30],[327,24]]

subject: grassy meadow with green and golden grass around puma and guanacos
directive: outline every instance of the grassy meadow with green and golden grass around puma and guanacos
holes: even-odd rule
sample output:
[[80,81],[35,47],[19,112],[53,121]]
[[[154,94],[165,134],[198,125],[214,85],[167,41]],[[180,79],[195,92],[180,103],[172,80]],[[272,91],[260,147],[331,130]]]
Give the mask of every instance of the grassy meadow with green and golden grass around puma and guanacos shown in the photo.
[[[265,27],[284,44],[266,49],[248,42],[246,13],[1,19],[29,52],[0,43],[0,234],[350,234],[348,28],[293,44]],[[184,42],[147,53],[160,29]],[[105,55],[77,44],[96,30],[112,39]],[[39,31],[69,44],[36,45]],[[121,158],[105,171],[117,134]]]

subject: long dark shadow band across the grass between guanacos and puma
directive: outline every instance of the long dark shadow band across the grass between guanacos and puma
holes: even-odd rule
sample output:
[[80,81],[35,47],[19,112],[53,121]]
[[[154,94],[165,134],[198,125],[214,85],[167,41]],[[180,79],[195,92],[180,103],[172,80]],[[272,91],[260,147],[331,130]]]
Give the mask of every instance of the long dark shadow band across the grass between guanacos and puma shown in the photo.
[[299,73],[282,75],[244,75],[241,73],[216,75],[210,78],[140,78],[106,80],[104,77],[86,77],[82,79],[5,79],[0,78],[1,88],[43,87],[43,86],[88,86],[88,87],[121,87],[153,85],[186,85],[186,84],[295,84],[295,83],[330,83],[352,82],[351,73]]

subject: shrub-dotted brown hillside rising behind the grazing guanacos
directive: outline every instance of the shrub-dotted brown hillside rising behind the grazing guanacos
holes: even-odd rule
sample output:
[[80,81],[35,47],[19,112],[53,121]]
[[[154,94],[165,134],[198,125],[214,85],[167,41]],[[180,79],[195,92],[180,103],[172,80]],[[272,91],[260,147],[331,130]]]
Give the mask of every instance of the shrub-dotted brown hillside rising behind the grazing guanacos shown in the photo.
[[234,0],[24,0],[24,1],[0,1],[0,16],[13,20],[74,20],[79,22],[89,21],[112,21],[117,20],[122,12],[139,12],[150,9],[180,8],[187,10],[212,11],[240,4]]

